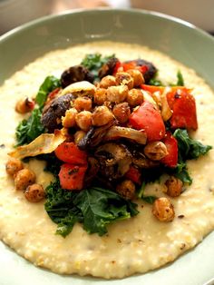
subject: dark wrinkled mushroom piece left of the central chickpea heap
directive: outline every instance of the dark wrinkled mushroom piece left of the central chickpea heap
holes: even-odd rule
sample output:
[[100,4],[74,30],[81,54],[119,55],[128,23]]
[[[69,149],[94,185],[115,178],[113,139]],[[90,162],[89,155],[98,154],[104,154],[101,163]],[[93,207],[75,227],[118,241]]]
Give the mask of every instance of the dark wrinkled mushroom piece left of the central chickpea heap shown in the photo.
[[41,123],[53,132],[61,125],[61,118],[64,116],[66,110],[71,108],[71,102],[75,99],[72,93],[53,99],[53,101],[44,107],[44,112],[41,118]]

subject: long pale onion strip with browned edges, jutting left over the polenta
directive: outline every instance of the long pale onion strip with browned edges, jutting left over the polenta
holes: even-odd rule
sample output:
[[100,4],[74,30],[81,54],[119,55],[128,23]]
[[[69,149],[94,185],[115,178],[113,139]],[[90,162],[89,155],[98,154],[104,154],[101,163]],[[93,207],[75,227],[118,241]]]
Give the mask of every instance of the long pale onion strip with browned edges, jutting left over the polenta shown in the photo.
[[55,130],[54,133],[42,133],[32,143],[19,146],[14,152],[9,152],[8,155],[17,159],[23,159],[28,156],[51,153],[65,140],[66,136],[59,130]]

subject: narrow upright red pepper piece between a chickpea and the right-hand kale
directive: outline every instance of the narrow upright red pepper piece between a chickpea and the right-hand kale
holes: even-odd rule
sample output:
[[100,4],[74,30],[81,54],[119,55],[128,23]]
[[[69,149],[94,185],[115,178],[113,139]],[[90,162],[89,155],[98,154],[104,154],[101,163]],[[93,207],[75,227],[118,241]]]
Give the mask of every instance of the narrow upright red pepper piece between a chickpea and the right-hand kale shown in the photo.
[[176,167],[178,163],[178,142],[175,137],[170,133],[170,131],[167,131],[166,136],[162,140],[163,143],[165,143],[167,147],[168,154],[163,157],[160,162],[165,164],[169,167]]

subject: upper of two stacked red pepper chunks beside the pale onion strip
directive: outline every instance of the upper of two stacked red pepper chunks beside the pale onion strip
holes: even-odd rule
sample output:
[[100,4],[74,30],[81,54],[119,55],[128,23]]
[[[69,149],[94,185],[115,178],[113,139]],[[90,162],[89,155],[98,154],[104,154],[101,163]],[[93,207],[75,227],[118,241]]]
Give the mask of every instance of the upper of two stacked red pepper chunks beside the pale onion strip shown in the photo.
[[55,155],[63,162],[72,164],[87,163],[87,153],[81,151],[74,143],[61,143],[55,149]]

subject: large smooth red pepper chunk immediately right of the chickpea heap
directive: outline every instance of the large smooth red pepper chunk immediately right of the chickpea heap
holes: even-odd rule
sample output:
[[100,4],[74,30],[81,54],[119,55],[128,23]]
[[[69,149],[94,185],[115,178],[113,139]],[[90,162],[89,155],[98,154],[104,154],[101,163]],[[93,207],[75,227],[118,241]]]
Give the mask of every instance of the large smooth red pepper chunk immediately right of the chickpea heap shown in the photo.
[[131,113],[129,123],[136,130],[145,130],[149,142],[160,141],[165,135],[161,115],[152,103],[143,102]]

